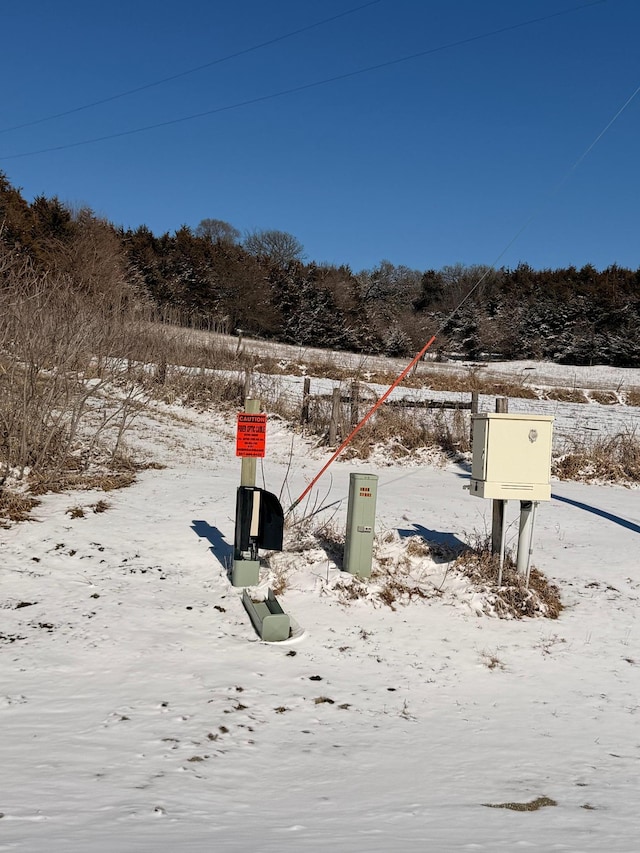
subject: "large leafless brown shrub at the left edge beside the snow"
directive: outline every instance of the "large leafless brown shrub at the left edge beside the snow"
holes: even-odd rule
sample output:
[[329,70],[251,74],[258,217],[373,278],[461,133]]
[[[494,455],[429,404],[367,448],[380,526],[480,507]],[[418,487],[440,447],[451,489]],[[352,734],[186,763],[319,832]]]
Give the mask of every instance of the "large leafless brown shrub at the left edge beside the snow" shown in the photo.
[[0,246],[0,488],[28,474],[42,492],[115,461],[140,402],[114,359],[127,335],[116,302]]

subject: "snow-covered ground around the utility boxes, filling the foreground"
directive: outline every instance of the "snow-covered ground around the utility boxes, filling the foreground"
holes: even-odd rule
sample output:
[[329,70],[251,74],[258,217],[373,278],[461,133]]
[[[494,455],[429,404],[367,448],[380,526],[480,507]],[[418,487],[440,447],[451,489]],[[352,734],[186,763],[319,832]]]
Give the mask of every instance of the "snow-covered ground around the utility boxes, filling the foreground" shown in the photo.
[[[165,469],[0,530],[0,851],[635,853],[640,490],[554,482],[533,560],[565,610],[502,620],[447,567],[491,524],[464,465],[338,461],[318,523],[343,525],[350,472],[377,474],[379,553],[430,543],[412,570],[433,595],[346,604],[328,556],[300,548],[279,596],[297,636],[265,644],[227,576],[234,433],[157,405],[131,443]],[[286,507],[327,458],[272,418],[258,485],[284,484]]]

